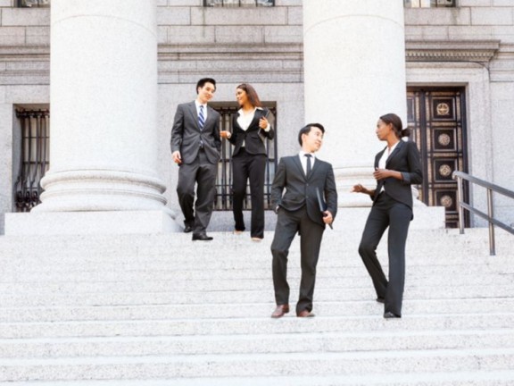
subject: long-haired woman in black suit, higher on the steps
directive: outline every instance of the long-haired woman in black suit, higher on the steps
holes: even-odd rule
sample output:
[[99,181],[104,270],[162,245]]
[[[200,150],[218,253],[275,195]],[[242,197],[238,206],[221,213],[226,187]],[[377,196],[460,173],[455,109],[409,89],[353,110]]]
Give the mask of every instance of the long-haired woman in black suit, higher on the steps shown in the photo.
[[275,133],[267,116],[269,110],[262,109],[261,100],[249,84],[236,88],[237,103],[241,107],[232,121],[232,132],[221,131],[222,138],[234,145],[232,172],[234,194],[233,212],[236,222],[234,233],[245,231],[243,201],[246,183],[250,180],[252,197],[252,224],[250,236],[254,241],[264,238],[264,172],[266,171],[266,147],[264,142],[273,139]]

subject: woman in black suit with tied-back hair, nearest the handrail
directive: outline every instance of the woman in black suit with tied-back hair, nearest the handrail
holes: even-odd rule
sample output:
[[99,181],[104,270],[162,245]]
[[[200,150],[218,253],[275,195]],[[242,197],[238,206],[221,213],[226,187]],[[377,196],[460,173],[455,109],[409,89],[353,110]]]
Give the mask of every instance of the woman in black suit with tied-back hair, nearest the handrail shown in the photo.
[[[375,157],[377,188],[355,185],[354,192],[368,194],[373,200],[368,221],[362,232],[359,254],[377,291],[377,302],[384,303],[385,318],[402,317],[402,298],[405,283],[405,241],[412,220],[410,185],[423,180],[419,151],[412,141],[402,141],[410,130],[402,129],[402,120],[394,113],[380,117],[377,137],[387,146]],[[389,227],[387,248],[389,281],[377,259],[377,245]]]

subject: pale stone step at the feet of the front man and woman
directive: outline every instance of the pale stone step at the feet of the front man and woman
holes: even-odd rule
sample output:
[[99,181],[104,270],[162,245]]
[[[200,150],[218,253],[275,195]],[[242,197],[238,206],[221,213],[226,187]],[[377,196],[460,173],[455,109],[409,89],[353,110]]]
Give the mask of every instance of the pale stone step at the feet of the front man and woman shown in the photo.
[[[220,315],[220,312],[228,318],[240,318],[249,312],[261,317],[270,315],[273,308],[271,302],[156,306],[19,306],[1,308],[0,323],[209,319],[213,315]],[[325,316],[378,315],[381,309],[373,300],[317,301],[315,306],[316,313]],[[406,299],[403,303],[404,315],[502,313],[506,310],[514,311],[514,298]]]

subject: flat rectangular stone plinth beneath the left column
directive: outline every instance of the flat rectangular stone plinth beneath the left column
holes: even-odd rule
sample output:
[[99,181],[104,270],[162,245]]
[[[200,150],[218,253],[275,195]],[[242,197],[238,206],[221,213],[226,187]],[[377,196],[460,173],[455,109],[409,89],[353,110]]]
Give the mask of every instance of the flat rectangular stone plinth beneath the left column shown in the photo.
[[5,214],[5,235],[147,234],[180,231],[165,211],[38,212]]

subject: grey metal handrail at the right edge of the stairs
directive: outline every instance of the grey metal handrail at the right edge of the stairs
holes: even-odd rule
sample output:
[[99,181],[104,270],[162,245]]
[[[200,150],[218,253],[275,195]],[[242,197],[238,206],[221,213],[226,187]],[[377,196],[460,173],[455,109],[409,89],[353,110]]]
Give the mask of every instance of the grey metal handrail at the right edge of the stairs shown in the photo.
[[[514,228],[494,218],[493,192],[499,193],[505,197],[514,198],[514,191],[502,188],[501,186],[495,185],[485,180],[477,179],[477,177],[473,177],[472,175],[469,175],[465,172],[455,171],[452,174],[452,178],[453,180],[457,180],[457,201],[459,205],[460,234],[464,234],[464,209],[468,210],[469,213],[477,214],[478,216],[487,220],[487,222],[489,222],[489,255],[495,256],[496,247],[494,240],[494,225],[499,226],[500,228],[502,228],[502,230],[508,231],[511,234],[514,234]],[[470,204],[463,202],[462,180],[467,180],[487,189],[487,214],[485,214],[482,211],[479,211],[477,208],[471,206]]]

